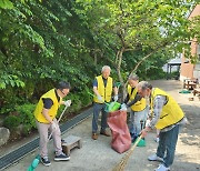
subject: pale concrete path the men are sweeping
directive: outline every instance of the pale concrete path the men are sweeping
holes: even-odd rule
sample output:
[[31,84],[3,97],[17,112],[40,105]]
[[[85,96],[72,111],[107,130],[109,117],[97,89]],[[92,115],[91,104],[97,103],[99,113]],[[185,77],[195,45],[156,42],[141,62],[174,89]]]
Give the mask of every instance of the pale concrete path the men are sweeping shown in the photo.
[[[181,104],[186,111],[190,124],[183,128],[180,133],[174,163],[172,171],[198,171],[200,169],[200,101],[194,99],[188,101],[191,94],[180,94],[181,82],[179,81],[152,81],[152,84],[159,87],[170,94]],[[100,135],[97,141],[91,139],[91,117],[70,129],[62,138],[77,135],[82,138],[82,148],[71,151],[70,161],[53,161],[52,141],[49,143],[50,167],[41,163],[37,171],[111,171],[118,164],[124,153],[119,154],[110,148],[111,138]],[[130,157],[126,171],[152,171],[159,165],[159,162],[149,162],[147,157],[154,153],[158,143],[153,141],[156,133],[150,132],[147,137],[147,147],[136,148]],[[38,150],[27,155],[19,163],[9,167],[7,171],[24,171],[39,153]]]

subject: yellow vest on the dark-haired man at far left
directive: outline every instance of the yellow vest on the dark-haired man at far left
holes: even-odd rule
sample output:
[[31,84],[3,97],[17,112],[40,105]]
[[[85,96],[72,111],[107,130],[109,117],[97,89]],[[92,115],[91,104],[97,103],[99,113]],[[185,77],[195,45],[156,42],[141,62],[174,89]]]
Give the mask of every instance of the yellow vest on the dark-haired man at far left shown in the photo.
[[57,111],[58,111],[58,108],[60,105],[60,102],[62,101],[62,98],[60,98],[60,101],[58,102],[58,99],[57,99],[57,95],[56,95],[56,92],[54,92],[54,89],[48,91],[47,93],[44,93],[38,104],[37,104],[37,108],[34,110],[34,117],[37,119],[37,121],[41,122],[41,123],[49,123],[49,121],[43,117],[42,114],[42,110],[43,110],[43,101],[42,99],[46,99],[46,98],[49,98],[53,101],[53,104],[51,107],[51,109],[49,109],[49,117],[53,120],[54,117],[57,115]]

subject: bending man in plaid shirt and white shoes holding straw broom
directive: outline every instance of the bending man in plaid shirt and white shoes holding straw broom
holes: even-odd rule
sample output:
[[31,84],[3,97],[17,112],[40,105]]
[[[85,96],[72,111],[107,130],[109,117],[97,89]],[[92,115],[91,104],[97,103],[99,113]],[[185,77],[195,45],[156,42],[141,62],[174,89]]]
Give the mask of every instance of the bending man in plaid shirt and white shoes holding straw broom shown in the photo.
[[147,81],[138,83],[138,92],[141,97],[149,97],[153,113],[152,120],[141,131],[141,135],[146,137],[153,128],[160,130],[157,153],[150,155],[148,160],[161,162],[156,171],[168,171],[173,163],[179,127],[186,123],[184,113],[170,94],[159,88],[152,88]]

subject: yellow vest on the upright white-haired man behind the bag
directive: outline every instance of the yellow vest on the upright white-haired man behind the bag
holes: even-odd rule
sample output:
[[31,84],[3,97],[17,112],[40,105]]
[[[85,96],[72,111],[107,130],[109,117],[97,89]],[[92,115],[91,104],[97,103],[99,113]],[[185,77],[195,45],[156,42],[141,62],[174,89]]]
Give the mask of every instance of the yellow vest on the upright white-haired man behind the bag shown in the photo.
[[99,101],[97,95],[93,98],[93,101],[97,103],[103,103],[104,101],[110,102],[111,95],[112,95],[112,78],[108,77],[106,88],[104,88],[102,76],[98,76],[98,77],[96,77],[96,79],[98,81],[97,90],[98,90],[99,94],[102,97],[103,101]]

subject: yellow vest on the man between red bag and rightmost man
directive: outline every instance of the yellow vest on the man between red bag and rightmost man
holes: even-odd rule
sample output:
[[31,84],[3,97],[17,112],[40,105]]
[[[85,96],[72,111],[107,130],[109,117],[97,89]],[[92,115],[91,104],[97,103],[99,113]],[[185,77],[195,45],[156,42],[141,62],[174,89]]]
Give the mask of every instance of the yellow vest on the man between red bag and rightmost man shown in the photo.
[[[134,88],[133,92],[131,93],[131,87],[128,84],[128,93],[129,93],[129,101],[134,100],[138,89]],[[137,101],[134,104],[131,105],[131,110],[132,111],[142,111],[143,109],[146,109],[146,99],[142,98],[141,100]]]

